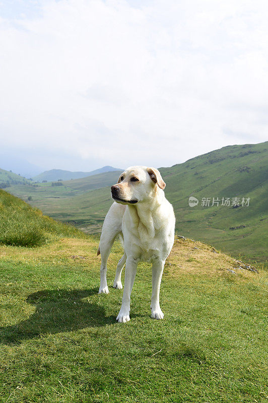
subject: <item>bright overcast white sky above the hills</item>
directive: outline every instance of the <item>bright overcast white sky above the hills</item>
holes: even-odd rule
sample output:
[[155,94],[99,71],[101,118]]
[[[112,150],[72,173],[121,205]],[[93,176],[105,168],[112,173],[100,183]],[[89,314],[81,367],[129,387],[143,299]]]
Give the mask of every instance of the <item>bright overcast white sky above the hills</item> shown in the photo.
[[171,166],[268,140],[266,0],[0,0],[2,152]]

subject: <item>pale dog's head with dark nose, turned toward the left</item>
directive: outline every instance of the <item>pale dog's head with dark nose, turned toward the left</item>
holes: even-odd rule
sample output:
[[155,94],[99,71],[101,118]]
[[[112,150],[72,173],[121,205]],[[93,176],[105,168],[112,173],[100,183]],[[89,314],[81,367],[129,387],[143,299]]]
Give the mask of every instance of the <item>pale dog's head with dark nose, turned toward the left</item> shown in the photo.
[[127,168],[119,176],[117,184],[111,187],[111,193],[117,203],[133,205],[152,197],[158,187],[164,189],[165,186],[158,169],[135,166]]

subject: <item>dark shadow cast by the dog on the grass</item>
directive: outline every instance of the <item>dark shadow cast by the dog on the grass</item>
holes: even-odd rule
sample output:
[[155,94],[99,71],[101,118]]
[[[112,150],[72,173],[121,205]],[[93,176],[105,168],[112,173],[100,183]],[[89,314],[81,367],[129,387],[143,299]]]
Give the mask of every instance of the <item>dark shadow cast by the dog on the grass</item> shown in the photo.
[[[20,343],[46,333],[58,333],[104,326],[114,323],[115,317],[105,317],[105,310],[89,297],[98,289],[43,290],[28,296],[27,302],[36,305],[35,312],[26,320],[0,327],[0,342]],[[84,300],[83,299],[87,299]]]

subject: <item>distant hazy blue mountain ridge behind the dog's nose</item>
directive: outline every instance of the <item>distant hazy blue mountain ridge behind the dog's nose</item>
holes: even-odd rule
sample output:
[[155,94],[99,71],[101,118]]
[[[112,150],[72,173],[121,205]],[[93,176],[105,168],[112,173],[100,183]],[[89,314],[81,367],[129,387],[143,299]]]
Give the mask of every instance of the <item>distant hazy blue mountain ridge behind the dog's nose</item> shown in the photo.
[[109,165],[95,169],[90,172],[72,172],[72,171],[64,171],[62,169],[51,169],[50,171],[45,171],[33,177],[37,182],[42,182],[46,180],[47,182],[57,181],[57,180],[72,180],[85,178],[87,176],[97,175],[103,172],[111,172],[111,171],[123,171],[123,169],[113,168]]

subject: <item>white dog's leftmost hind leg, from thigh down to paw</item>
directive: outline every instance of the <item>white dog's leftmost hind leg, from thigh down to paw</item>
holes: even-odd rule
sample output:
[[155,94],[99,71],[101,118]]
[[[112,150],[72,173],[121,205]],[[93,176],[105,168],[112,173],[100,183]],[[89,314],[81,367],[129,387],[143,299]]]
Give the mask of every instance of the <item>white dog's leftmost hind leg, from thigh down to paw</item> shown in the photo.
[[99,294],[108,294],[107,286],[107,260],[116,236],[122,230],[122,217],[125,206],[114,203],[108,211],[101,232],[100,245],[97,254],[101,254],[100,288]]

